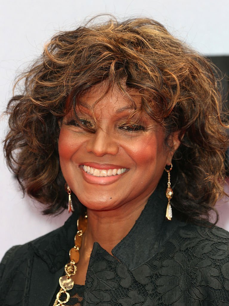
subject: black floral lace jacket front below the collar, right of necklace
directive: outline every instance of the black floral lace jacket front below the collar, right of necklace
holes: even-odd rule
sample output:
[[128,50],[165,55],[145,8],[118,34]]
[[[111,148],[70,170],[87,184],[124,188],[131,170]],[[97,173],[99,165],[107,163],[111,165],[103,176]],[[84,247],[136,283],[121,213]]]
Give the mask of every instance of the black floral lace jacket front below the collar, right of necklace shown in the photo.
[[228,233],[178,227],[154,258],[129,271],[98,249],[83,305],[229,306]]

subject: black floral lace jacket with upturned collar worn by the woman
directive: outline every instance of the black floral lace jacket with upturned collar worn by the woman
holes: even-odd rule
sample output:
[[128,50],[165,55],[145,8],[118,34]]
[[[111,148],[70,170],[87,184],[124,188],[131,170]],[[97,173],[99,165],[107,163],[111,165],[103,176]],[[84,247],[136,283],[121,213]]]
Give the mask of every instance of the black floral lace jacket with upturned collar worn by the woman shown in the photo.
[[[166,221],[166,184],[162,187],[113,256],[93,245],[85,286],[74,287],[67,305],[229,306],[229,233],[175,217]],[[77,219],[74,213],[60,229],[6,253],[0,305],[53,306]]]

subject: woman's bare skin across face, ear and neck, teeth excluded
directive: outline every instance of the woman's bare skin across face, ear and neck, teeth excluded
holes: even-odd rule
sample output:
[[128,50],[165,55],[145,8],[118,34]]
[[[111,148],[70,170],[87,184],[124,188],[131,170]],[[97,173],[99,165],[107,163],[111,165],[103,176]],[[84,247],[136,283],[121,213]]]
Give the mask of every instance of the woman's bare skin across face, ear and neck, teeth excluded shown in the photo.
[[[134,122],[127,122],[133,109],[116,88],[95,105],[95,123],[90,107],[102,92],[101,84],[93,87],[80,97],[81,107],[77,110],[82,122],[93,127],[95,132],[87,132],[75,125],[72,113],[69,113],[61,124],[59,136],[64,178],[87,207],[88,227],[80,250],[83,259],[78,263],[80,272],[75,276],[75,282],[82,284],[93,242],[99,242],[112,254],[112,248],[133,227],[165,165],[171,164],[174,149],[179,146],[179,141],[173,137],[174,146],[170,150],[165,145],[163,127],[146,115],[140,122],[134,119]],[[129,94],[139,107],[140,96],[133,89]],[[133,131],[133,123],[143,128],[135,126]],[[107,170],[126,168],[126,171],[113,177],[94,177],[85,173],[82,168],[85,164]]]

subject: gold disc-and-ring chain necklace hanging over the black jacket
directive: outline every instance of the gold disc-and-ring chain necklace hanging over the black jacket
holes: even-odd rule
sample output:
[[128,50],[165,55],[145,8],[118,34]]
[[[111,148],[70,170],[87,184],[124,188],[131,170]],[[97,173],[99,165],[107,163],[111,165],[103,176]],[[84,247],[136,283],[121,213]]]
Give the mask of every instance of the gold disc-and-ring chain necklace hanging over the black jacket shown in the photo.
[[75,246],[69,251],[70,262],[64,267],[65,275],[59,278],[60,291],[56,294],[56,300],[53,306],[62,306],[70,299],[70,294],[67,292],[74,286],[74,281],[71,276],[77,271],[76,263],[79,262],[79,249],[82,243],[82,236],[87,228],[87,215],[79,217],[77,220],[77,233],[75,235]]

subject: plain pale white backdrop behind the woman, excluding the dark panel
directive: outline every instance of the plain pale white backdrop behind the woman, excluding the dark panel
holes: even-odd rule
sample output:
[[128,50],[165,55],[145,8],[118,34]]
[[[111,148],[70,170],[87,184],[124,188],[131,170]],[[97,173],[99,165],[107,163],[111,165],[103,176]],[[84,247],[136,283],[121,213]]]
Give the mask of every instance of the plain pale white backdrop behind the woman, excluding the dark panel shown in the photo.
[[[86,17],[112,13],[118,17],[150,16],[204,54],[229,55],[228,0],[8,0],[0,7],[0,112],[11,96],[16,73],[42,52],[59,29],[74,28]],[[1,137],[6,120],[1,118]],[[2,148],[1,148],[2,150]],[[42,216],[41,205],[22,198],[12,174],[0,160],[0,258],[6,249],[61,226],[67,213]],[[225,202],[225,201],[224,201]],[[229,230],[229,206],[220,207],[220,226]]]

